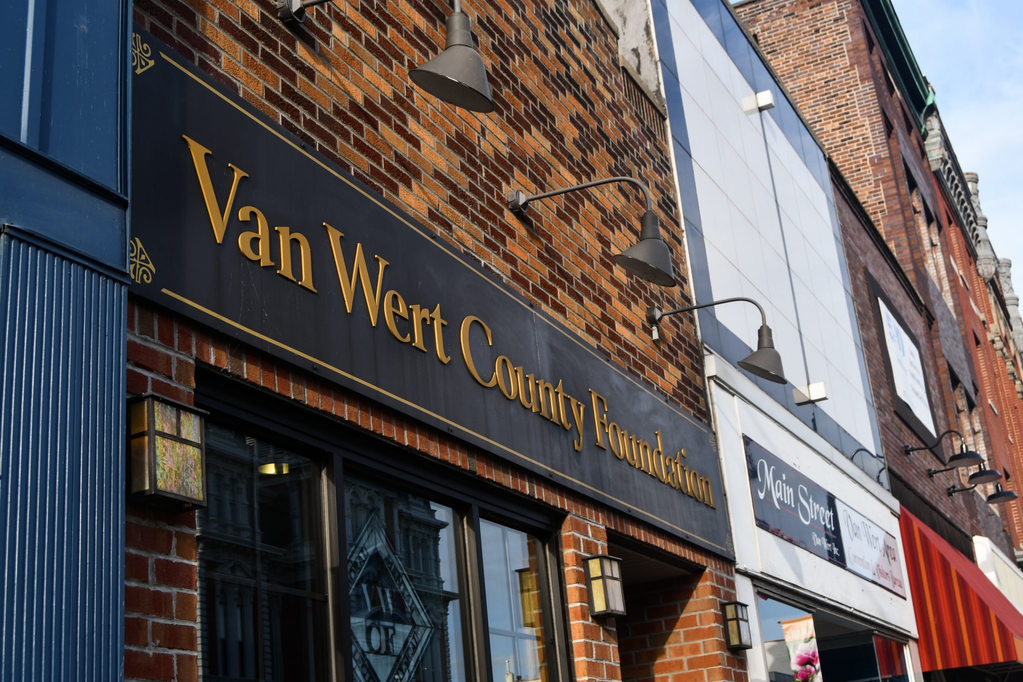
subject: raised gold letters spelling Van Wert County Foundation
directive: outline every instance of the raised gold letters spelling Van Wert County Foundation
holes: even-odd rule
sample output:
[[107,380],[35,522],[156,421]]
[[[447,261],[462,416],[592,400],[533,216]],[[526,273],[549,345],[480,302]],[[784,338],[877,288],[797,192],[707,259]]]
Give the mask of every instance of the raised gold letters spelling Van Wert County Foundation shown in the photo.
[[[232,173],[231,188],[227,199],[221,207],[208,166],[207,156],[210,156],[212,152],[187,135],[182,135],[182,138],[188,145],[191,154],[214,238],[218,244],[221,244],[227,231],[227,221],[232,215],[241,179],[248,178],[249,174],[233,164],[227,165]],[[249,260],[259,263],[260,267],[272,267],[274,260],[271,254],[273,240],[271,239],[270,222],[263,212],[254,206],[242,206],[237,212],[237,220],[240,223],[251,225],[254,218],[255,229],[241,231],[238,234],[238,249]],[[338,274],[338,284],[349,315],[352,314],[358,299],[358,289],[361,287],[362,299],[365,301],[366,313],[369,316],[371,326],[376,326],[383,304],[385,325],[388,332],[396,340],[411,346],[422,353],[429,353],[427,344],[432,337],[437,360],[441,364],[448,364],[451,361],[451,356],[448,355],[444,344],[444,329],[448,322],[441,313],[441,304],[434,304],[431,308],[430,305],[424,303],[409,303],[397,290],[386,289],[384,276],[390,263],[376,255],[373,256],[376,261],[374,282],[373,276],[369,272],[362,243],[355,242],[352,259],[346,261],[342,246],[344,233],[326,222],[323,222],[322,225],[326,230],[327,241]],[[277,226],[274,230],[277,233],[279,244],[280,267],[277,268],[277,274],[313,293],[317,293],[317,289],[313,285],[313,245],[309,239],[301,232],[293,231],[287,226]],[[132,277],[136,281],[148,281],[151,277],[151,263],[148,262],[137,238],[133,240],[131,245]],[[293,259],[296,245],[299,249],[301,267],[301,273],[298,274],[295,272]],[[399,328],[398,320],[403,321],[401,328]],[[569,394],[565,388],[564,379],[559,378],[554,382],[543,378],[539,372],[528,371],[524,364],[517,365],[516,358],[508,355],[498,355],[492,365],[490,376],[484,377],[480,373],[480,365],[477,364],[477,361],[482,358],[474,358],[473,356],[471,334],[474,325],[479,326],[483,331],[487,347],[494,348],[494,336],[486,322],[475,315],[462,318],[458,334],[461,357],[465,363],[465,369],[473,379],[486,389],[496,387],[500,395],[507,401],[511,404],[518,402],[522,409],[528,410],[530,414],[538,414],[566,431],[572,433],[574,430],[572,446],[576,452],[582,452],[585,438],[585,417],[588,411],[586,405]],[[433,334],[430,333],[431,330]],[[489,353],[486,355],[488,358],[490,357]],[[487,365],[489,365],[489,359]],[[485,368],[485,371],[490,370],[490,366]],[[626,462],[629,468],[635,471],[634,474],[630,475],[640,475],[639,471],[642,471],[673,490],[677,490],[680,494],[709,507],[714,507],[714,492],[711,481],[695,468],[682,463],[685,457],[684,448],[678,450],[674,456],[665,455],[660,429],[654,430],[652,440],[643,439],[634,431],[630,433],[609,416],[612,410],[608,399],[592,389],[588,391],[590,394],[589,407],[592,409],[593,415],[593,437],[597,448],[610,449],[616,460]]]

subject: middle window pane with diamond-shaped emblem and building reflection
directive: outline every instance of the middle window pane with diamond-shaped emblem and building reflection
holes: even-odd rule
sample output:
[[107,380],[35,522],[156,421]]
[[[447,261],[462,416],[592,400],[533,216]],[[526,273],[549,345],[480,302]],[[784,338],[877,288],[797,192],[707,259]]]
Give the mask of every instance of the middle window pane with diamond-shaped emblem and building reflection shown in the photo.
[[451,508],[346,479],[345,522],[355,679],[464,680]]

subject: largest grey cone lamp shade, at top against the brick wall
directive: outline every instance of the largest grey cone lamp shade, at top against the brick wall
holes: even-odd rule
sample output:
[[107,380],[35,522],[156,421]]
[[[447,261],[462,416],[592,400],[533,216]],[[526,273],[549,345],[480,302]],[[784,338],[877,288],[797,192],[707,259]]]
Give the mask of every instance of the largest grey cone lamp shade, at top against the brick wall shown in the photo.
[[494,110],[487,67],[476,51],[469,16],[463,12],[448,16],[444,51],[408,76],[415,85],[449,104],[481,113]]

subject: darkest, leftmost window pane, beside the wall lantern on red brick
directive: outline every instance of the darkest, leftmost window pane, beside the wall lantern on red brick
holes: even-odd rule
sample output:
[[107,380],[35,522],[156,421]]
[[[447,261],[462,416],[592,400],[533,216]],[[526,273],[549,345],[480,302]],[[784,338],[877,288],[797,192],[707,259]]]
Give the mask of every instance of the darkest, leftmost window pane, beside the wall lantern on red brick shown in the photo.
[[198,513],[203,679],[326,679],[321,469],[210,423]]

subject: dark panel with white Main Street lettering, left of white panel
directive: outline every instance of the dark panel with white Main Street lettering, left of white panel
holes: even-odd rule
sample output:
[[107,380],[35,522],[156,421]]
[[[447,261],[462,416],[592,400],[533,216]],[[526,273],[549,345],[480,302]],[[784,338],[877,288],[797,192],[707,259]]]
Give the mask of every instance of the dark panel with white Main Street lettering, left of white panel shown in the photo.
[[843,569],[835,496],[743,436],[757,526]]

